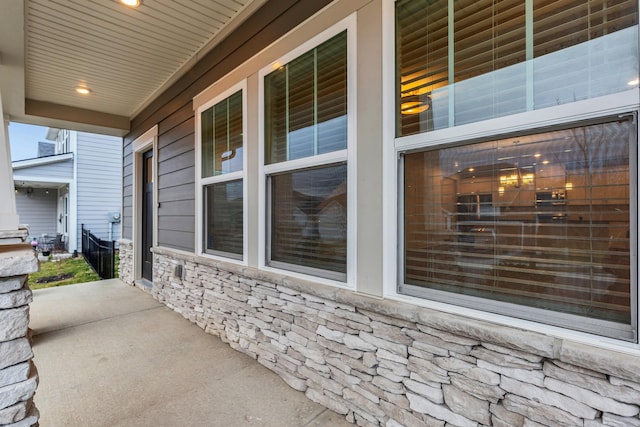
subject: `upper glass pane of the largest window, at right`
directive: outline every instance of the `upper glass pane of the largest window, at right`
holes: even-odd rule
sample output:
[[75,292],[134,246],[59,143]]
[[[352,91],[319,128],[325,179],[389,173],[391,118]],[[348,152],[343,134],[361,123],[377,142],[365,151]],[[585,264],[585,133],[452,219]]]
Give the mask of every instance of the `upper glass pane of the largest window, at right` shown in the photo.
[[398,136],[622,92],[638,77],[635,0],[448,3],[396,2]]

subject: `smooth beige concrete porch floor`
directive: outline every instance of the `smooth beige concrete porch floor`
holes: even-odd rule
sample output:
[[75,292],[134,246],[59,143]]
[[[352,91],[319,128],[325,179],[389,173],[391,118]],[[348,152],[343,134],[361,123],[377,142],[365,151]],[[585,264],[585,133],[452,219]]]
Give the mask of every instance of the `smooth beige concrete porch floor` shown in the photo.
[[33,294],[42,426],[351,425],[118,279]]

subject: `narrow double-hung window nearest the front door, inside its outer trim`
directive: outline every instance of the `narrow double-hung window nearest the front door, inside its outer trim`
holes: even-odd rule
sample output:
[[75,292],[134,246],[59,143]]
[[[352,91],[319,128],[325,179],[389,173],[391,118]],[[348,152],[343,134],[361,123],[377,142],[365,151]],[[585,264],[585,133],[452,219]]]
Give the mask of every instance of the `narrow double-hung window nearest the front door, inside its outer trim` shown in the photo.
[[198,109],[201,252],[242,260],[245,247],[244,88]]

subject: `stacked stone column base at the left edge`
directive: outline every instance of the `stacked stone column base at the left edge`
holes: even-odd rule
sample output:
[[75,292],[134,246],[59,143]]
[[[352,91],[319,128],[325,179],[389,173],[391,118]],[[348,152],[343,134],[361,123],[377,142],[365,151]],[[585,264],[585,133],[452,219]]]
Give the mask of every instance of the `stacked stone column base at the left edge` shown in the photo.
[[0,425],[37,425],[33,404],[38,375],[31,359],[27,285],[38,259],[26,242],[26,229],[0,231]]

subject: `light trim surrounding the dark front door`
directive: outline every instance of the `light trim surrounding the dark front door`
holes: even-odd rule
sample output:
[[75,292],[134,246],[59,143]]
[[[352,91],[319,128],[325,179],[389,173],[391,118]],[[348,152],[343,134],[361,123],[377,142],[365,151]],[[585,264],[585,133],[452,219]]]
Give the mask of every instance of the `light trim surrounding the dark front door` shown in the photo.
[[[142,154],[153,150],[153,246],[158,246],[158,125],[136,138],[132,143],[133,182],[131,236],[133,240],[133,278],[142,278]],[[73,198],[73,193],[72,193]],[[74,203],[71,200],[71,203]]]

